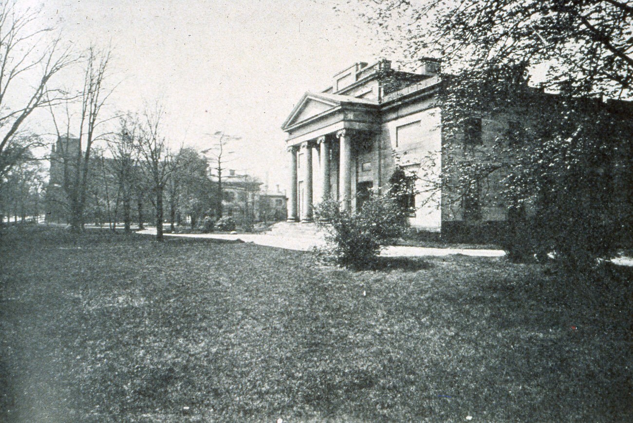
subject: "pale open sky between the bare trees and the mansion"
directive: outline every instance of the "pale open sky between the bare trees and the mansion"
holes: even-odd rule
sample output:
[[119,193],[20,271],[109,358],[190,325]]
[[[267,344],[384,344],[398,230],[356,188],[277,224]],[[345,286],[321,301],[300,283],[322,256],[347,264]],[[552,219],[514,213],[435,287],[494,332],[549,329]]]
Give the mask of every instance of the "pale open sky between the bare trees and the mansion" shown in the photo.
[[44,8],[78,48],[111,44],[113,109],[142,111],[159,99],[173,142],[198,149],[218,130],[241,136],[229,167],[263,181],[270,171],[271,187],[286,185],[280,126],[301,95],[380,53],[354,15],[310,0],[47,0]]

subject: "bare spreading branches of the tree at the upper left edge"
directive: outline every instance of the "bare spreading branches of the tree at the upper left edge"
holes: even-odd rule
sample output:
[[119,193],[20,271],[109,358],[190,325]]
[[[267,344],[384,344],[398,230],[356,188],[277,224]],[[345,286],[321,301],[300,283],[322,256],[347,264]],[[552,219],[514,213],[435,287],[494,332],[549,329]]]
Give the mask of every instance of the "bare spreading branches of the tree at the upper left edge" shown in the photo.
[[61,47],[59,37],[44,42],[52,29],[37,27],[40,10],[20,11],[16,0],[0,3],[0,176],[39,143],[37,137],[21,135],[28,116],[68,99],[50,81],[76,58]]

